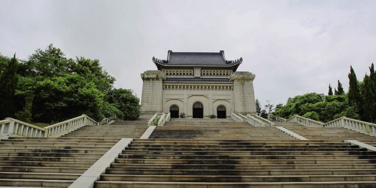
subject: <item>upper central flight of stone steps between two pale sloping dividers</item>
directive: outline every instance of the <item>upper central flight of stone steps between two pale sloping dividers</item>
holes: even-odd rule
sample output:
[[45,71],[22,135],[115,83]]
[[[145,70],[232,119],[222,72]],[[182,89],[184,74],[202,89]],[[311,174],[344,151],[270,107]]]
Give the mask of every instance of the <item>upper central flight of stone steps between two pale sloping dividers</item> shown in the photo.
[[232,119],[171,119],[149,139],[296,139],[276,127],[253,127]]

